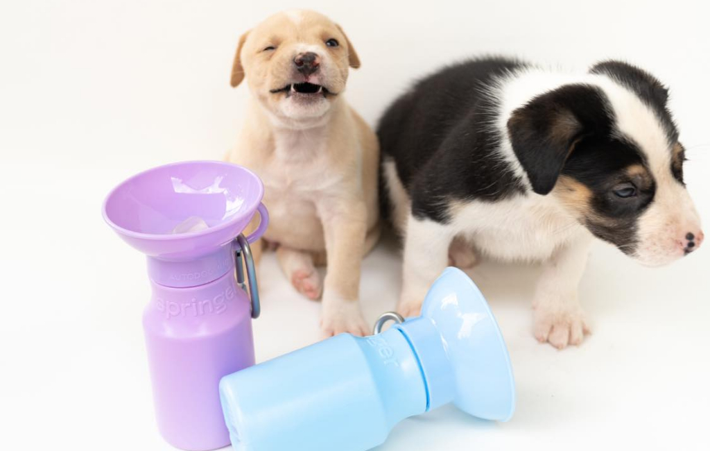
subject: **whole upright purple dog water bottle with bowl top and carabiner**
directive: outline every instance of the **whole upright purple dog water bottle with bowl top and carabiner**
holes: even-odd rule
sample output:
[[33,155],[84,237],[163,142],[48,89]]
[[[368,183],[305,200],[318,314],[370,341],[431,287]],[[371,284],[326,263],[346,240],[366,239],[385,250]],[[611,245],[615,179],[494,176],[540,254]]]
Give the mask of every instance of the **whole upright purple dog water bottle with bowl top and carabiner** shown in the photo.
[[[262,196],[246,168],[196,161],[135,175],[104,202],[104,219],[148,256],[153,294],[143,328],[155,413],[165,440],[183,450],[229,445],[219,380],[254,364],[259,303],[249,242],[268,224]],[[257,211],[258,229],[245,238]]]

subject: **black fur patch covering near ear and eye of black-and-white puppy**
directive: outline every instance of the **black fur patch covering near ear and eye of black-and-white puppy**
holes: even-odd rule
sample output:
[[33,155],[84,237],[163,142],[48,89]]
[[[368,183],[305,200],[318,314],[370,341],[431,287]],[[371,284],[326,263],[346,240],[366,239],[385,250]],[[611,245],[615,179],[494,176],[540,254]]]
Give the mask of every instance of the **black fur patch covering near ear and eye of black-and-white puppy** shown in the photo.
[[[584,225],[596,237],[633,254],[638,217],[655,194],[655,183],[638,146],[614,133],[611,104],[598,87],[563,85],[515,110],[508,121],[513,151],[532,189],[546,195],[560,175],[591,192]],[[629,175],[632,167],[643,174]],[[621,198],[616,185],[633,183],[636,195]]]

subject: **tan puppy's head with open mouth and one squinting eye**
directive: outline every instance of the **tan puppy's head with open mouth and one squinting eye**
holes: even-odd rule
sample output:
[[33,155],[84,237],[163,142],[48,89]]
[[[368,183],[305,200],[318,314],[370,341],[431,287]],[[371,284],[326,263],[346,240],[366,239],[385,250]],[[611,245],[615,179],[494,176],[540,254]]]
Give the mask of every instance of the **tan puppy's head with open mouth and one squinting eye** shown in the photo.
[[349,67],[359,67],[342,29],[313,11],[275,14],[241,37],[231,85],[246,75],[252,94],[284,119],[317,119],[345,89]]

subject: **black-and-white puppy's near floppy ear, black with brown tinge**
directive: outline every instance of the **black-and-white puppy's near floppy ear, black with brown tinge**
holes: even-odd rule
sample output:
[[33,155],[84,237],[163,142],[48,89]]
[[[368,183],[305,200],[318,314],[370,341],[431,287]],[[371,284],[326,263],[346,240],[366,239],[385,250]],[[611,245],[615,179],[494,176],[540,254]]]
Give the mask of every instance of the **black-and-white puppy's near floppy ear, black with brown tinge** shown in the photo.
[[589,85],[564,85],[513,111],[508,136],[533,191],[546,195],[555,188],[581,138],[608,133],[610,111],[601,90]]

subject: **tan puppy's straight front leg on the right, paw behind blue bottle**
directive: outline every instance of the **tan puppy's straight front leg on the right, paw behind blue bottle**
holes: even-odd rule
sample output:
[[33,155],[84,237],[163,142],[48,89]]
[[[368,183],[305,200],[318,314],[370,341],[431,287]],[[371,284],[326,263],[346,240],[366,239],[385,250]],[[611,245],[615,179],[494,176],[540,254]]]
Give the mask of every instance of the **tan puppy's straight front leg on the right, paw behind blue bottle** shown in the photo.
[[325,337],[342,332],[368,335],[359,304],[360,268],[366,234],[362,200],[324,200],[319,205],[328,268],[321,326]]

